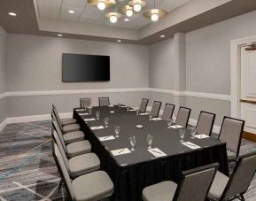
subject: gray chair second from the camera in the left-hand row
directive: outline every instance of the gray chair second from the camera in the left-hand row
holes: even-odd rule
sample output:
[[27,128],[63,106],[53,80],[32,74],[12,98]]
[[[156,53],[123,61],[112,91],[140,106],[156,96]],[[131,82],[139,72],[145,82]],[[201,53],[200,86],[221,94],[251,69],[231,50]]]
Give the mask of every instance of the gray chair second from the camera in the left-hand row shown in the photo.
[[66,169],[72,178],[97,171],[100,168],[100,161],[95,153],[90,152],[68,159],[56,131],[53,131],[53,139],[58,145]]

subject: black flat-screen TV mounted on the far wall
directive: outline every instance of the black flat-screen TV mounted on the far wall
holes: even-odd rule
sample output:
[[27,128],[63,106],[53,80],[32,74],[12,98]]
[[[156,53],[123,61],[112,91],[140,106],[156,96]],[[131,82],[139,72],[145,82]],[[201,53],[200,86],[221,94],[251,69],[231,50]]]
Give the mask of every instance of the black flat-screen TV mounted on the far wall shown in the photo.
[[110,57],[63,53],[62,81],[110,81]]

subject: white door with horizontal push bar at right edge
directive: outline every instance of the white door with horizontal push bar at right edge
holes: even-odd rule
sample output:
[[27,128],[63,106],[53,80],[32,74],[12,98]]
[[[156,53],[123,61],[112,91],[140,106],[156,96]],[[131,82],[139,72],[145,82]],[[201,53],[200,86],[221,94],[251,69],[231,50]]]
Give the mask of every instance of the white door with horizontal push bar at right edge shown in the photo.
[[256,134],[256,50],[241,50],[241,119],[244,131]]

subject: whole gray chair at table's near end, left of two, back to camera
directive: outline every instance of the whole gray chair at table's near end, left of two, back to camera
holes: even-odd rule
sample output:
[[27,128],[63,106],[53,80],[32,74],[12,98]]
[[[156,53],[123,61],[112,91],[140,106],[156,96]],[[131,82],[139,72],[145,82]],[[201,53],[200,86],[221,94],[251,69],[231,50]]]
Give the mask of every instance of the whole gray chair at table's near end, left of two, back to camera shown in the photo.
[[218,164],[201,166],[184,171],[182,181],[159,182],[143,190],[144,201],[205,201],[216,174]]

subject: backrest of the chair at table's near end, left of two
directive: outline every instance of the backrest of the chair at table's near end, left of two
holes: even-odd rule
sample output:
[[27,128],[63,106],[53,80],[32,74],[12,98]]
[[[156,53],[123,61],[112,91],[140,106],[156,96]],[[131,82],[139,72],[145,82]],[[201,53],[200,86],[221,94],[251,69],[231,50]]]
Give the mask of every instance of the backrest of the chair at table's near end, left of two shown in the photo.
[[218,164],[214,163],[184,171],[182,173],[182,182],[179,183],[173,200],[205,201],[218,166]]

